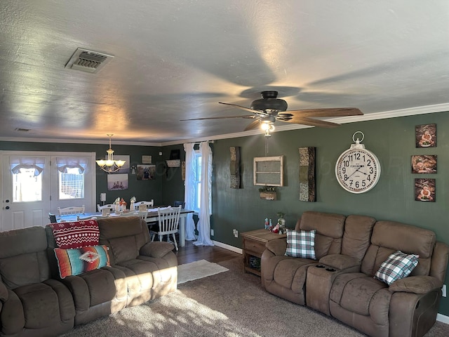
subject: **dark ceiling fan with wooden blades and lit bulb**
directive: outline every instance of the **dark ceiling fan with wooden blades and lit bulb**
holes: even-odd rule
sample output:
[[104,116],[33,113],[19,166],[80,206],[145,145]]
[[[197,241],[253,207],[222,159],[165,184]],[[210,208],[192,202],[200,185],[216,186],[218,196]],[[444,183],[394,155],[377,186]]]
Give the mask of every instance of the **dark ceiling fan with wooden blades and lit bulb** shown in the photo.
[[253,130],[257,126],[261,126],[263,130],[273,131],[275,121],[283,121],[286,123],[303,124],[309,126],[321,126],[323,128],[335,128],[340,124],[332,123],[330,121],[323,121],[321,119],[314,119],[310,117],[343,117],[356,116],[363,114],[356,107],[335,107],[335,108],[319,108],[306,110],[287,110],[287,102],[277,98],[277,91],[262,91],[260,93],[262,98],[253,101],[250,108],[242,107],[232,103],[220,104],[230,105],[251,114],[246,116],[223,116],[223,117],[204,117],[194,119],[181,119],[182,121],[195,121],[201,119],[226,119],[226,118],[247,118],[254,119],[245,131]]

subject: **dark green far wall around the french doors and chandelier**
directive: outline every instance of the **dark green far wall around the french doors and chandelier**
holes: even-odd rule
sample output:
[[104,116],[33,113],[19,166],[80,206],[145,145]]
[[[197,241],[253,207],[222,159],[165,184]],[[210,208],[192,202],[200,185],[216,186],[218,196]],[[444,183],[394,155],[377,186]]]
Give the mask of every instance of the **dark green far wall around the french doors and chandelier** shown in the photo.
[[[105,144],[61,144],[61,143],[20,143],[0,142],[0,150],[20,151],[51,151],[51,152],[96,152],[96,159],[105,158],[108,145]],[[107,204],[112,204],[117,197],[122,197],[129,203],[131,197],[136,200],[154,199],[155,204],[162,201],[162,177],[164,176],[164,164],[159,156],[160,147],[135,146],[135,145],[112,145],[114,154],[130,156],[130,166],[142,164],[142,155],[152,156],[153,164],[156,165],[156,179],[137,180],[135,175],[128,176],[128,190],[108,191],[107,173],[96,169],[96,204],[100,204],[100,193],[106,192]]]

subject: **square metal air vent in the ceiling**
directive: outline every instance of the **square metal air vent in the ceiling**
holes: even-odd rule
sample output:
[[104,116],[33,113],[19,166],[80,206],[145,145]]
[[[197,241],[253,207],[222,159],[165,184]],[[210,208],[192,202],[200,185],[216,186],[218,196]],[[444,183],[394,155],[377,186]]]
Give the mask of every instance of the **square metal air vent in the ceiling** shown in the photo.
[[81,72],[97,73],[112,58],[114,58],[114,55],[77,48],[65,67],[72,70],[81,70]]

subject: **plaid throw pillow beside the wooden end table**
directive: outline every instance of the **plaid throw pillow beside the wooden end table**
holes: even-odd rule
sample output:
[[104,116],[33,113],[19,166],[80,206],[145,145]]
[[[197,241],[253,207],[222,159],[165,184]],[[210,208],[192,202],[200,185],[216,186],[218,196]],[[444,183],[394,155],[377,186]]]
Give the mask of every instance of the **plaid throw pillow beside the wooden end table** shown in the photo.
[[286,256],[315,260],[316,230],[287,230]]

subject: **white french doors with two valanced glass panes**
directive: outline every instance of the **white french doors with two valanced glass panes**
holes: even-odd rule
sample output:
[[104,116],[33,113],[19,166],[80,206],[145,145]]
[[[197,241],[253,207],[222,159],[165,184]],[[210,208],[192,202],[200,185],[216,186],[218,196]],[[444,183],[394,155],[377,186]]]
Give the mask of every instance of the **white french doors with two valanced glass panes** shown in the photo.
[[58,207],[95,211],[95,152],[0,154],[1,231],[45,226]]

